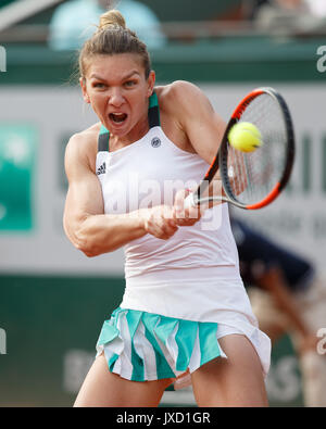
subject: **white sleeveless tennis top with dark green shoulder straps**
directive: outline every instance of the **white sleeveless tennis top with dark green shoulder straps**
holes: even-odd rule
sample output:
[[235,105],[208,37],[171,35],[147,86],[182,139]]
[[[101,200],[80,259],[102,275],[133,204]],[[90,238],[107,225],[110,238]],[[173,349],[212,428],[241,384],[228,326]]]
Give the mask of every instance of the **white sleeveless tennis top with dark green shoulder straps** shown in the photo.
[[[160,126],[158,98],[149,109],[150,129],[134,143],[109,151],[109,131],[99,135],[97,174],[104,211],[127,213],[149,203],[173,204],[176,190],[198,184],[209,164],[175,146]],[[233,326],[235,313],[255,324],[240,275],[228,206],[205,212],[168,240],[150,234],[124,247],[126,288],[122,307]]]

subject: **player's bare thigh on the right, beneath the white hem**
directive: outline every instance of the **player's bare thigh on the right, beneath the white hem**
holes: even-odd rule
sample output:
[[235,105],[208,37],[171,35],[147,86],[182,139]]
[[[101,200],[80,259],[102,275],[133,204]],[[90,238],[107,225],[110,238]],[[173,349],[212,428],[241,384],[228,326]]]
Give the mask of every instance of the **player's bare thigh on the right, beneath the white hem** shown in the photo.
[[247,337],[229,335],[218,340],[227,358],[217,357],[192,375],[199,406],[267,406],[261,361]]

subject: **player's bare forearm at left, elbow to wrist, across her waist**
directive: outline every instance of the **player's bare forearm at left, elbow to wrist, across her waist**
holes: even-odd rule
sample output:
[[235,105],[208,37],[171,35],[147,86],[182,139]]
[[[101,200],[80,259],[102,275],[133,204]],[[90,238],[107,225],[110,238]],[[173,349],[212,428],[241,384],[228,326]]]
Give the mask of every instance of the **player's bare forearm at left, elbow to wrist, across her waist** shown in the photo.
[[140,211],[89,215],[75,225],[66,222],[65,231],[73,244],[87,256],[113,252],[147,234]]

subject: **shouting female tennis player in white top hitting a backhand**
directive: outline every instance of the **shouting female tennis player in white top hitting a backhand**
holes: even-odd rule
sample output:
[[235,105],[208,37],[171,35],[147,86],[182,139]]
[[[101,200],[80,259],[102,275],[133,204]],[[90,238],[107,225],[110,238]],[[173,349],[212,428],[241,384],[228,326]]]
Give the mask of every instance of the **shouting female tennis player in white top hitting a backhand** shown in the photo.
[[99,123],[66,148],[64,228],[87,256],[124,247],[126,288],[75,406],[156,406],[172,382],[192,382],[199,406],[266,406],[271,343],[239,275],[227,204],[183,210],[225,123],[195,85],[154,87],[147,48],[117,11],[101,16],[79,66]]

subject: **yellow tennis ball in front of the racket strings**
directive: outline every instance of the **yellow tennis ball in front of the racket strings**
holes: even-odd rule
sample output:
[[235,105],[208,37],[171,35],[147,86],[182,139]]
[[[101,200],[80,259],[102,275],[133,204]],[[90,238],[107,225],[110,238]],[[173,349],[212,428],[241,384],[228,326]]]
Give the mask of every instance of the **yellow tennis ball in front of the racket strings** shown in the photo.
[[228,133],[228,142],[241,152],[253,152],[263,144],[261,131],[250,122],[240,122]]

